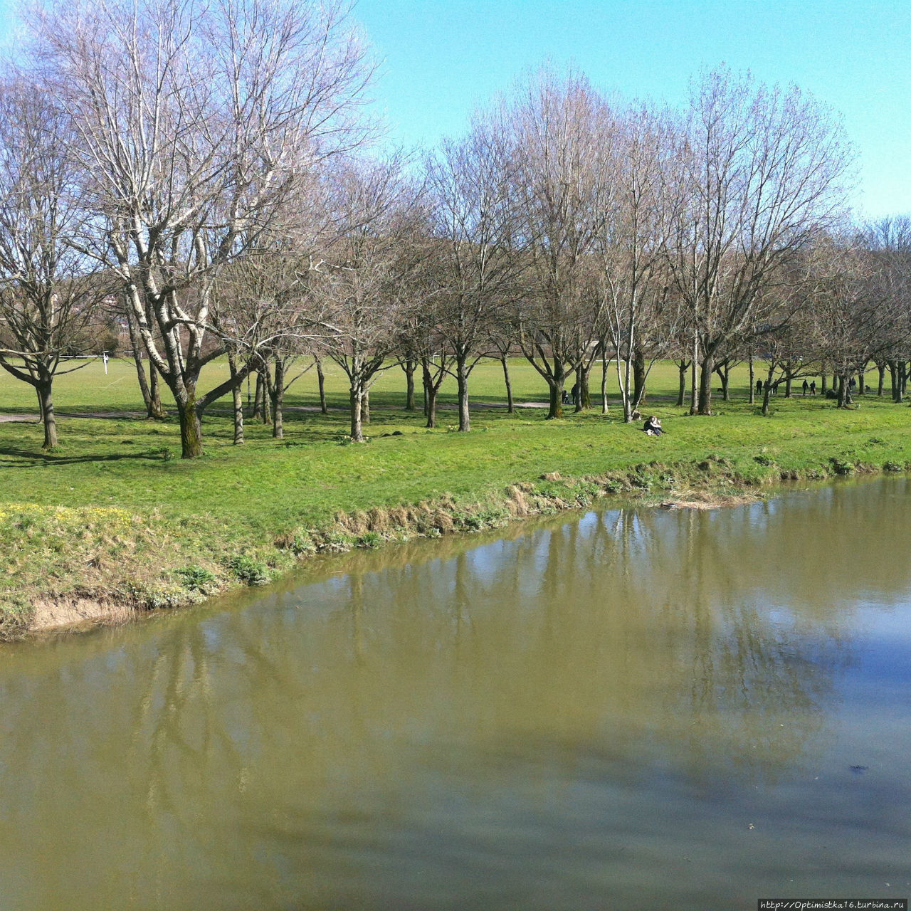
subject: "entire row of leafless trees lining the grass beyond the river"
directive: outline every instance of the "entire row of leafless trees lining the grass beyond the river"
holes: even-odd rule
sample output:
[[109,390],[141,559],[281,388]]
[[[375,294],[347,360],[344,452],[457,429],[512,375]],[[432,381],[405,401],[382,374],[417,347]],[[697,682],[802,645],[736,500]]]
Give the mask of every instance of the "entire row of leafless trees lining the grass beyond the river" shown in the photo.
[[507,387],[527,358],[549,417],[570,380],[589,406],[599,362],[627,421],[665,357],[700,415],[754,356],[789,384],[824,362],[839,404],[869,363],[904,383],[907,225],[850,227],[850,148],[796,87],[721,67],[676,110],[545,67],[416,160],[370,151],[374,64],[343,0],[51,3],[28,34],[0,93],[0,365],[35,386],[48,447],[61,356],[111,307],[185,457],[228,394],[242,442],[251,374],[280,436],[285,392],[314,364],[322,389],[325,360],[354,440],[396,363],[431,426],[455,377],[462,431],[492,354]]

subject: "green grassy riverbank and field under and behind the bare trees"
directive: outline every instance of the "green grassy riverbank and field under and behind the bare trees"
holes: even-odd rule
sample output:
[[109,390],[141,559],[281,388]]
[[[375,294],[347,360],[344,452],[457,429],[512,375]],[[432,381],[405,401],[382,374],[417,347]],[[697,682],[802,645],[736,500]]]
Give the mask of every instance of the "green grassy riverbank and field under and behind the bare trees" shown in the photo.
[[[218,380],[213,371],[210,382]],[[507,415],[498,364],[478,368],[474,430],[457,434],[442,411],[427,431],[402,410],[404,377],[377,384],[365,445],[346,445],[346,415],[296,409],[317,404],[315,377],[292,386],[286,438],[250,423],[231,445],[227,415],[205,422],[207,455],[183,462],[176,420],[123,416],[139,410],[128,363],[100,363],[58,384],[60,448],[40,451],[36,425],[0,424],[0,634],[14,636],[115,607],[169,607],[255,584],[315,550],[375,547],[390,538],[435,537],[511,517],[584,506],[627,491],[687,499],[693,491],[736,494],[782,478],[819,478],[911,467],[911,411],[863,396],[853,411],[816,397],[773,400],[763,418],[735,374],[719,415],[677,408],[676,371],[661,366],[648,410],[667,434],[655,439],[599,408],[546,421],[539,408]],[[518,401],[542,402],[530,368],[513,371]],[[345,402],[343,378],[328,377],[330,404]],[[444,390],[444,404],[455,390]],[[0,414],[33,411],[30,390],[0,377]],[[105,417],[68,417],[97,413]],[[558,475],[559,477],[555,477]],[[542,476],[550,476],[542,479]]]

